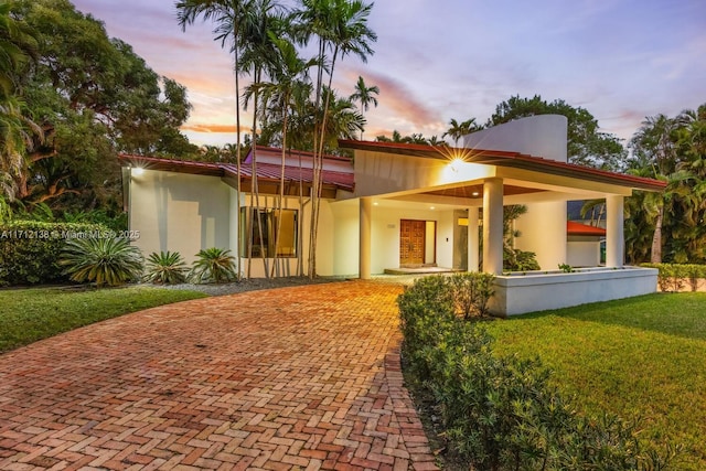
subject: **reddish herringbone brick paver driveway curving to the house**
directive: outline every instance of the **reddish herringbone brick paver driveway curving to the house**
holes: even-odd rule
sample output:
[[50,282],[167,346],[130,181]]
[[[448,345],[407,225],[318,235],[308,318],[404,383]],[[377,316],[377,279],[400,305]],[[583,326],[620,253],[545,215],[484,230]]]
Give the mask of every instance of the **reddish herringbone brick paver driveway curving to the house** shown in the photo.
[[374,281],[188,301],[0,355],[0,469],[435,469]]

